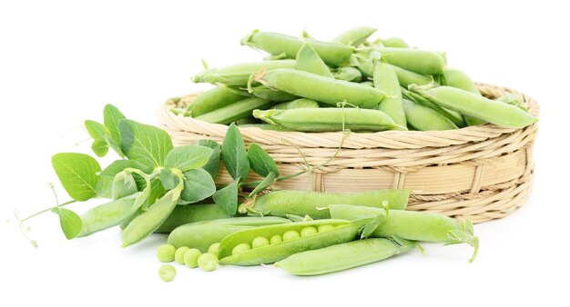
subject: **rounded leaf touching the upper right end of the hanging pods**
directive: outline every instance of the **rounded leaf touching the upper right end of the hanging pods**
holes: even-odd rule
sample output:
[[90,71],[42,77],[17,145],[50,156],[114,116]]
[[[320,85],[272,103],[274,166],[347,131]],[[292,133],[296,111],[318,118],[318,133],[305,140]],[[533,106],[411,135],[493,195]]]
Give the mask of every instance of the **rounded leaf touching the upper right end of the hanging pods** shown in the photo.
[[204,200],[216,192],[216,183],[205,170],[198,168],[184,173],[184,190],[181,198],[188,203]]

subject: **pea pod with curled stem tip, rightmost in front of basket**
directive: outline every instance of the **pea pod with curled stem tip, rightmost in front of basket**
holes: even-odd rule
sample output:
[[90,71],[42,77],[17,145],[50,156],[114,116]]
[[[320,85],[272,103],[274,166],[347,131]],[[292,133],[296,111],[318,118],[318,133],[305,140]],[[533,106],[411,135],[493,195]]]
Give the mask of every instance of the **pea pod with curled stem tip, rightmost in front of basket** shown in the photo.
[[[329,206],[331,217],[359,221],[384,214],[384,209],[332,204]],[[370,235],[374,238],[399,237],[412,241],[433,243],[468,243],[473,246],[473,262],[479,251],[479,238],[473,236],[473,224],[469,220],[458,223],[452,218],[439,213],[390,210],[382,223]]]

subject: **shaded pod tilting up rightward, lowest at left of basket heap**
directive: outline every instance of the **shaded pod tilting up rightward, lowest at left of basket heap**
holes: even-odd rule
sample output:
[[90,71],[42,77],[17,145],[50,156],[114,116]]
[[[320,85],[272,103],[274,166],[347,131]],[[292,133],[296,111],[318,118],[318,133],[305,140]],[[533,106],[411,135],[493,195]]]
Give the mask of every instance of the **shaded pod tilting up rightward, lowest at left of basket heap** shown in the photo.
[[195,117],[199,121],[214,124],[230,124],[240,118],[246,117],[256,109],[266,109],[271,106],[270,101],[258,97],[251,97],[240,100],[237,103],[229,104],[207,114]]

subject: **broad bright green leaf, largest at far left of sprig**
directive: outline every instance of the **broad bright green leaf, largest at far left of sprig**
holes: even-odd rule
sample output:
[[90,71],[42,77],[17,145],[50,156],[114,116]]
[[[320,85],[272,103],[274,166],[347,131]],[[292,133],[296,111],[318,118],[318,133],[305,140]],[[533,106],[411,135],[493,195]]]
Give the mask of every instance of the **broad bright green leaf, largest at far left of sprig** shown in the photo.
[[66,192],[78,202],[97,195],[97,181],[101,166],[85,153],[56,153],[52,165]]

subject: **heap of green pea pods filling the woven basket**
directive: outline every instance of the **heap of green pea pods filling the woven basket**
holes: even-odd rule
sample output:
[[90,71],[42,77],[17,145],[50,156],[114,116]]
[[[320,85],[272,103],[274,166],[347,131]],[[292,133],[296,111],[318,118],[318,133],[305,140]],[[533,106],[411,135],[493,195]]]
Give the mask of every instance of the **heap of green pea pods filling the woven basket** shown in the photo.
[[[352,28],[320,41],[253,31],[241,45],[266,51],[259,62],[208,68],[193,76],[216,87],[175,114],[262,129],[326,132],[450,130],[475,124],[524,127],[537,119],[523,99],[484,97],[444,54],[411,48],[401,38],[369,41],[376,29]],[[266,123],[266,124],[265,124]]]

